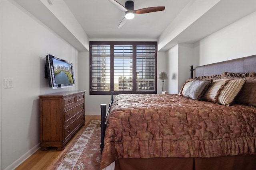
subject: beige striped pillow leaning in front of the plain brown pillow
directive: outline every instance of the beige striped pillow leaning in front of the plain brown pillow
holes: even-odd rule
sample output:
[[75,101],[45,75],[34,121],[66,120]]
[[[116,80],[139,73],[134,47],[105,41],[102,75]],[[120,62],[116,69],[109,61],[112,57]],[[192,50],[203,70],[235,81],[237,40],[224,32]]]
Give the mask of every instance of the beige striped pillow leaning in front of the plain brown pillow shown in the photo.
[[225,106],[230,106],[234,102],[235,97],[238,95],[245,82],[245,78],[230,80],[228,84],[224,86],[223,90],[221,90],[217,102]]

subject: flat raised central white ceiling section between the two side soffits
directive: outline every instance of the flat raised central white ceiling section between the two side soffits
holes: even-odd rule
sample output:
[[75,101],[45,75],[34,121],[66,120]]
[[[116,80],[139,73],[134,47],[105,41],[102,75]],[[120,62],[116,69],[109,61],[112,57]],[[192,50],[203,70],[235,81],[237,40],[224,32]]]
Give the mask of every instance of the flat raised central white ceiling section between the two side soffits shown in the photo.
[[[136,14],[118,28],[124,12],[108,0],[64,0],[89,38],[157,39],[189,0],[133,0],[134,10],[165,6],[164,11]],[[117,0],[125,6],[126,0]]]

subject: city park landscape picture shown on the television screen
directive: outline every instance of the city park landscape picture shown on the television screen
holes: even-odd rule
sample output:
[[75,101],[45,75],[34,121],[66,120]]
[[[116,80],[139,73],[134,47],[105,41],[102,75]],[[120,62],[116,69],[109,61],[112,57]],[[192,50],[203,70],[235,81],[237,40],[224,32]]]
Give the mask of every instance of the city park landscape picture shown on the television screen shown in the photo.
[[71,64],[52,58],[56,84],[74,84]]

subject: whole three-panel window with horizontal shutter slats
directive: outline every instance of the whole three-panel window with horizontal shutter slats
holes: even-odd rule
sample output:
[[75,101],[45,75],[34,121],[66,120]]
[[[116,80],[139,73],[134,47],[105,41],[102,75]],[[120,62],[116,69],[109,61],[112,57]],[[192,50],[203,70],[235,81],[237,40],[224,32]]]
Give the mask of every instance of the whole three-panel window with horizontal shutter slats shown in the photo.
[[90,42],[90,94],[156,94],[157,42]]

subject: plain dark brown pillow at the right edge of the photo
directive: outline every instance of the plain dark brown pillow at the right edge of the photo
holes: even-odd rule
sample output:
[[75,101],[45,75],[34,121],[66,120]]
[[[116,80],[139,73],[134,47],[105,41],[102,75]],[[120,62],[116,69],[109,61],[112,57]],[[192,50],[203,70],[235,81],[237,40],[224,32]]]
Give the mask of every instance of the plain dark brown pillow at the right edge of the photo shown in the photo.
[[256,77],[246,77],[246,83],[236,96],[235,102],[256,106]]

